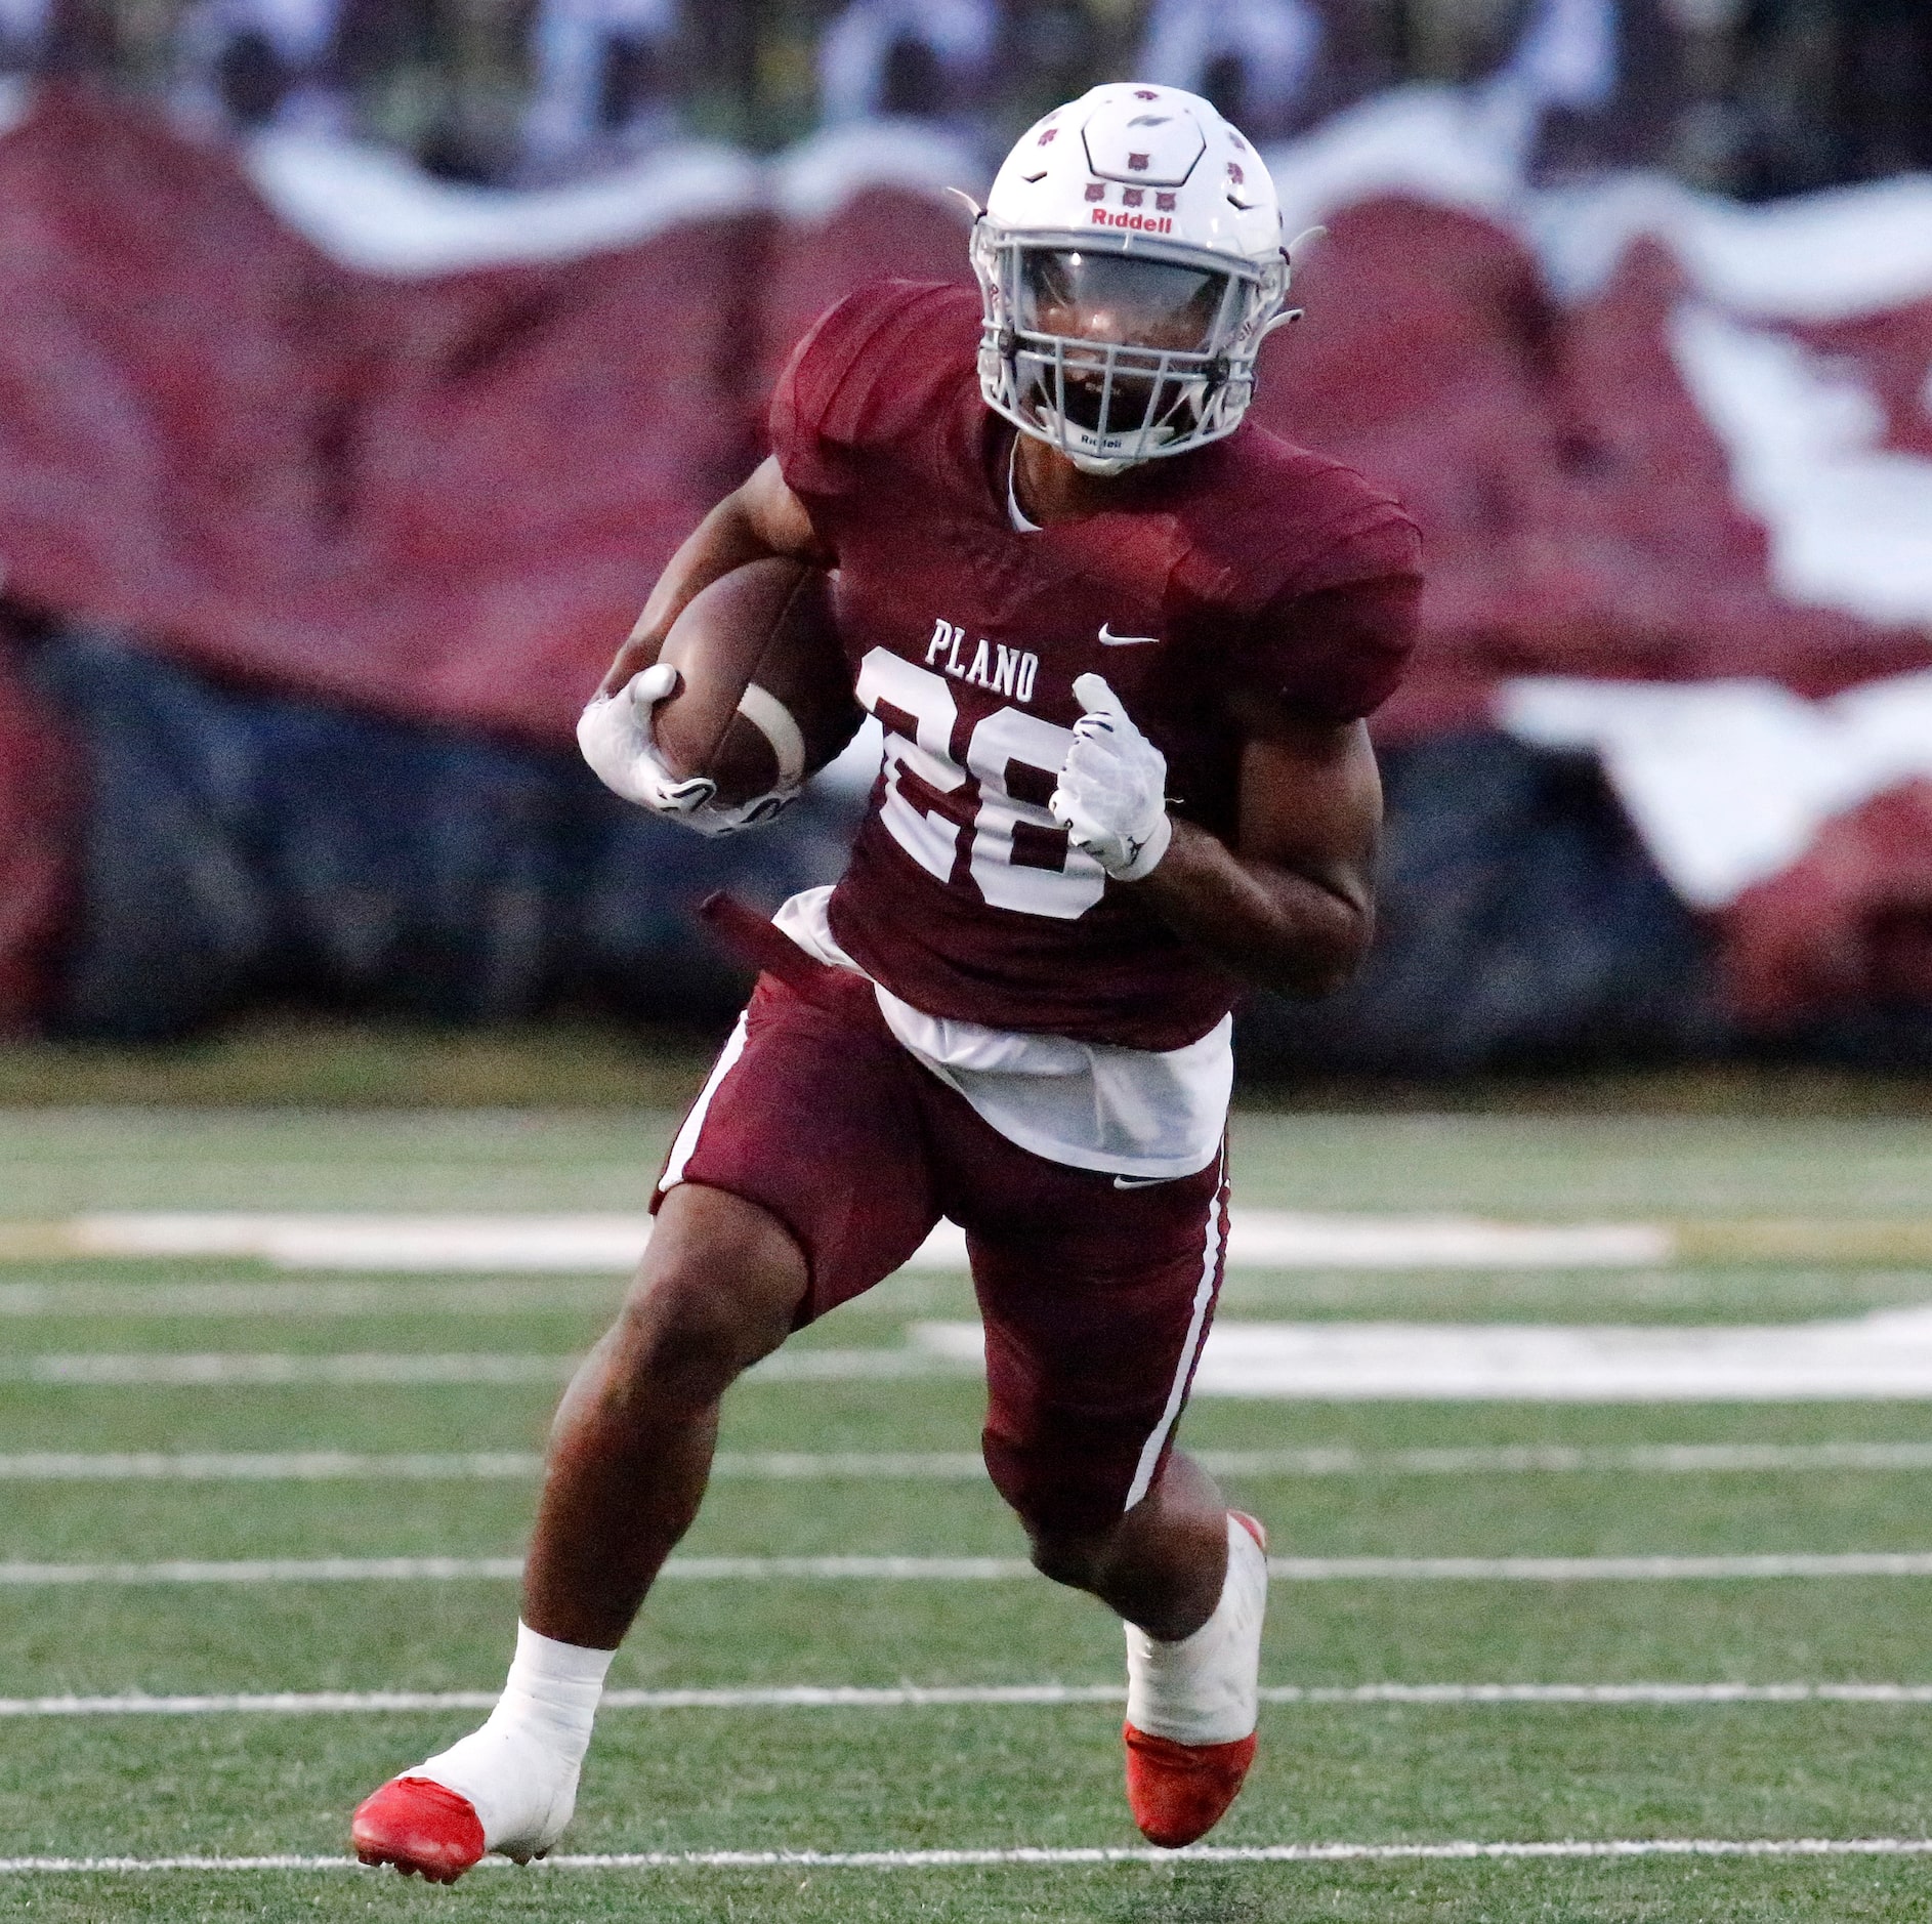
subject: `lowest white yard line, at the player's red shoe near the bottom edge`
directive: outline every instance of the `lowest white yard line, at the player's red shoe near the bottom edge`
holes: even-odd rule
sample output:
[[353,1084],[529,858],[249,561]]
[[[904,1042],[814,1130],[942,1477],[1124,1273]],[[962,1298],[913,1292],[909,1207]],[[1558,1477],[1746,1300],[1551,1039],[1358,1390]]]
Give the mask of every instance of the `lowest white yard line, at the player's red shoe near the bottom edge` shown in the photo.
[[[1932,1837],[1563,1837],[1532,1843],[1304,1843],[1045,1849],[1012,1845],[985,1851],[607,1851],[554,1853],[526,1868],[531,1876],[566,1870],[978,1870],[1082,1864],[1414,1864],[1497,1858],[1804,1858],[1928,1856]],[[477,1870],[510,1868],[487,1856]],[[352,1856],[0,1856],[0,1876],[153,1876],[156,1872],[365,1872]],[[383,1874],[386,1876],[386,1872]]]

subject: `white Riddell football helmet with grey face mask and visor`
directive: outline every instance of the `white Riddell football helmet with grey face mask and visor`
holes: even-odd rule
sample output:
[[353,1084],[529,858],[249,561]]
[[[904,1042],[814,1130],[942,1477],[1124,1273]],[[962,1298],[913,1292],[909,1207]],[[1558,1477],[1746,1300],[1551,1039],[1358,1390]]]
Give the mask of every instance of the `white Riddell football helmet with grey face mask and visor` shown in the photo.
[[1086,473],[1240,425],[1289,251],[1262,156],[1208,100],[1121,81],[1007,155],[974,224],[980,392]]

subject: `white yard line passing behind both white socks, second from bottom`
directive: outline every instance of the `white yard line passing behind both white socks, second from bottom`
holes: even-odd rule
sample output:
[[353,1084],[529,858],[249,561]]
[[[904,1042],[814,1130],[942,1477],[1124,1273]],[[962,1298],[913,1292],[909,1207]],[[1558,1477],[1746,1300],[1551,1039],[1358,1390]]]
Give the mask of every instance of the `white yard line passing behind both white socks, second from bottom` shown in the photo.
[[[603,1710],[929,1710],[943,1706],[1119,1704],[1124,1684],[744,1684],[607,1690]],[[1932,1684],[1899,1683],[1447,1683],[1264,1684],[1264,1704],[1698,1708],[1725,1704],[1928,1704]],[[315,1717],[491,1710],[495,1690],[267,1690],[211,1696],[8,1696],[0,1717]]]

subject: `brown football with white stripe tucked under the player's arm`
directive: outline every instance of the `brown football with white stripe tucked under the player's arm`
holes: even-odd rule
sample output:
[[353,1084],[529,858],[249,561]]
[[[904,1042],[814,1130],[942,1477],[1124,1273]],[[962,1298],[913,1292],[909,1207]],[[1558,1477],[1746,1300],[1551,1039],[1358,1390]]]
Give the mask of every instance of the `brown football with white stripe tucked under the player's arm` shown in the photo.
[[817,775],[864,719],[821,568],[734,568],[672,622],[659,659],[684,680],[651,715],[657,751],[674,775],[709,775],[726,806]]

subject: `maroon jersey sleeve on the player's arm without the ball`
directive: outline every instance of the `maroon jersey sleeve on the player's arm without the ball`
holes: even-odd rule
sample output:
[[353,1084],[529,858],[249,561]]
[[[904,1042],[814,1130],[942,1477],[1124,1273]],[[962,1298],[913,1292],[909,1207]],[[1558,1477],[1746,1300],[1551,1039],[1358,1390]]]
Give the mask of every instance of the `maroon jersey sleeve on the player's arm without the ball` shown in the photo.
[[1422,537],[1399,510],[1329,547],[1244,624],[1235,672],[1298,715],[1372,715],[1408,666],[1422,599]]

